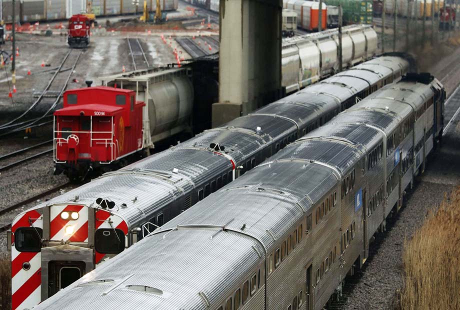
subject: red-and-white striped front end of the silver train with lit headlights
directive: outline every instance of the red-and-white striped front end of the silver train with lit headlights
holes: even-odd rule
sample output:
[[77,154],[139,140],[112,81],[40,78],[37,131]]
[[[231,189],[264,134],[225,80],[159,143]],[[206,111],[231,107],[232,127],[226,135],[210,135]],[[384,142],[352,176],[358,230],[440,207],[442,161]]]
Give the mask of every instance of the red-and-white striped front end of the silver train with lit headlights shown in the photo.
[[128,225],[112,212],[114,203],[97,198],[89,205],[54,203],[14,218],[12,310],[30,309],[128,245]]

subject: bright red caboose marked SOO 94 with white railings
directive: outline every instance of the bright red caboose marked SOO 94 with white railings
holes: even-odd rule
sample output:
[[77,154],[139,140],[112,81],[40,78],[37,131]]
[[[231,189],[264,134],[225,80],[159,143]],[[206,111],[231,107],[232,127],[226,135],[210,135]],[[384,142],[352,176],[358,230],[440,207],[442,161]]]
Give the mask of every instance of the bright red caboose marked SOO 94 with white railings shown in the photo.
[[106,86],[64,92],[54,112],[55,173],[84,178],[142,149],[142,108],[135,91]]

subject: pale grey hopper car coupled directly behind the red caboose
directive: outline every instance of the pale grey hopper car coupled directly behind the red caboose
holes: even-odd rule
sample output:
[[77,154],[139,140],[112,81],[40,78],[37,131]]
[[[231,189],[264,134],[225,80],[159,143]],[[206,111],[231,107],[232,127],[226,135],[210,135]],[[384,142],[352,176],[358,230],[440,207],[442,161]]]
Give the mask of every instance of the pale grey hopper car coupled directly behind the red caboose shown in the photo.
[[144,101],[143,146],[180,132],[191,133],[193,85],[189,68],[137,70],[99,77],[103,85],[136,91]]

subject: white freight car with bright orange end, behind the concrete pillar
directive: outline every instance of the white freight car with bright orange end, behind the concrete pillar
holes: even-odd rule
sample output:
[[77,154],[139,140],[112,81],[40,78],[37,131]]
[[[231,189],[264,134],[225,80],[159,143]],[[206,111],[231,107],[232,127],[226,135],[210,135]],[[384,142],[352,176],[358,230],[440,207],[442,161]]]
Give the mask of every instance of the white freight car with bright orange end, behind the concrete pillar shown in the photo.
[[[283,7],[297,13],[297,25],[305,30],[317,30],[319,25],[319,2],[305,0],[283,0]],[[321,28],[327,28],[327,5],[321,6]]]

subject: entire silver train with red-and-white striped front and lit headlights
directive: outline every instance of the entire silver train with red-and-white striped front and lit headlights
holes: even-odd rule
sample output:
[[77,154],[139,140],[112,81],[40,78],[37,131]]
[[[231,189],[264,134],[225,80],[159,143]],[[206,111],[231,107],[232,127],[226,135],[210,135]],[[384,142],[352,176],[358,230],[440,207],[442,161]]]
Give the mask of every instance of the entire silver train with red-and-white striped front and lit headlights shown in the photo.
[[51,296],[408,68],[401,57],[369,60],[21,212],[8,236],[12,310]]

